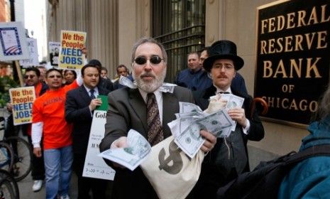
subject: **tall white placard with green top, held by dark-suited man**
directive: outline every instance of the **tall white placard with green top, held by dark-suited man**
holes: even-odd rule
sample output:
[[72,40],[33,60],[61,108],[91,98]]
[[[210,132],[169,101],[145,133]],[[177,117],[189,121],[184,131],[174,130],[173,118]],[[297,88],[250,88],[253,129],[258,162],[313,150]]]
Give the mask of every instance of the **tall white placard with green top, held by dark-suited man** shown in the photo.
[[103,158],[97,156],[100,153],[99,144],[104,138],[104,124],[106,124],[108,97],[105,95],[99,95],[97,98],[101,98],[102,104],[94,110],[82,176],[113,181],[116,172],[105,163]]

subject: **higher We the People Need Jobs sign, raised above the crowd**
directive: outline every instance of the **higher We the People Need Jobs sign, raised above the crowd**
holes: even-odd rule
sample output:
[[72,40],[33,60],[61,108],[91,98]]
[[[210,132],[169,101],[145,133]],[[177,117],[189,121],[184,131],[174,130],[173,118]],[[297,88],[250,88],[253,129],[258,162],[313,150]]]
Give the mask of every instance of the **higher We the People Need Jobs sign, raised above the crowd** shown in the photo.
[[86,33],[77,31],[61,31],[61,50],[59,58],[60,69],[82,69],[84,66],[84,54]]

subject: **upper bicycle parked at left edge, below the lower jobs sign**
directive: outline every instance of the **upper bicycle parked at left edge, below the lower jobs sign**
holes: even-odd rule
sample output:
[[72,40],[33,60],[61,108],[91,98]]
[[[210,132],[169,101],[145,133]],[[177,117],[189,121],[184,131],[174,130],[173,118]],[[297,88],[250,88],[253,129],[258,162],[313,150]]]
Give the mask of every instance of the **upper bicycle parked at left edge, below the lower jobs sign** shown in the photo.
[[[0,117],[0,134],[5,134],[6,127],[8,127],[6,119]],[[12,173],[16,181],[21,181],[30,173],[32,155],[31,146],[26,140],[18,136],[2,136],[0,141],[0,168]]]

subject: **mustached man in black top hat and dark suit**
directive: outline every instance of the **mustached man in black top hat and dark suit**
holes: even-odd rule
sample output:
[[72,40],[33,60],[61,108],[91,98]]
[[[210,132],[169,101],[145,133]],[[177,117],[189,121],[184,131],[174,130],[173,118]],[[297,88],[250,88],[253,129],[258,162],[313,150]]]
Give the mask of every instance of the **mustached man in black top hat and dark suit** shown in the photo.
[[251,117],[252,97],[231,87],[236,71],[244,61],[237,55],[236,45],[231,41],[216,41],[209,49],[209,58],[204,60],[205,70],[210,72],[213,85],[206,90],[193,92],[197,105],[202,109],[209,106],[209,98],[217,93],[231,93],[243,97],[241,108],[229,109],[231,119],[237,122],[235,131],[226,139],[218,138],[214,149],[205,156],[199,181],[189,196],[192,198],[215,198],[216,190],[239,173],[249,171],[247,141],[260,141],[264,136],[257,112]]

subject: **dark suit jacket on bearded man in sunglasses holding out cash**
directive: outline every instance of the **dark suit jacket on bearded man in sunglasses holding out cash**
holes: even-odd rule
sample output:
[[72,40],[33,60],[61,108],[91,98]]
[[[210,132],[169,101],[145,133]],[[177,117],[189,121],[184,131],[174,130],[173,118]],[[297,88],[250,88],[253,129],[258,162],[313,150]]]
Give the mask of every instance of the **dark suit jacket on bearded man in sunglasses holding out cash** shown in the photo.
[[[109,110],[106,116],[106,131],[100,150],[109,149],[112,142],[127,136],[129,129],[140,132],[147,139],[147,108],[138,89],[115,90],[108,95]],[[183,87],[175,87],[173,93],[163,92],[163,132],[165,138],[171,135],[167,123],[175,119],[180,111],[179,102],[193,102],[192,93]],[[110,161],[106,161],[111,166]],[[114,168],[114,167],[113,167]],[[143,175],[141,168],[134,171],[115,168],[114,198],[157,198],[155,191]]]

